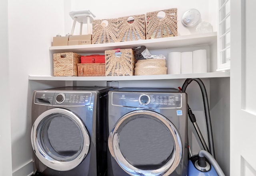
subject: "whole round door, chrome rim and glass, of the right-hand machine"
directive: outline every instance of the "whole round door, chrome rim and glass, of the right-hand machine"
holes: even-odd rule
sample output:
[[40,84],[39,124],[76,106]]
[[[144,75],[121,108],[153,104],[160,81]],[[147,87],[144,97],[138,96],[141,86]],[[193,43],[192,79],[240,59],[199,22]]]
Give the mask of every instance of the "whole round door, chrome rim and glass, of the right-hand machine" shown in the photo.
[[121,117],[108,137],[119,166],[132,176],[162,176],[178,166],[182,146],[174,125],[154,111],[136,110]]

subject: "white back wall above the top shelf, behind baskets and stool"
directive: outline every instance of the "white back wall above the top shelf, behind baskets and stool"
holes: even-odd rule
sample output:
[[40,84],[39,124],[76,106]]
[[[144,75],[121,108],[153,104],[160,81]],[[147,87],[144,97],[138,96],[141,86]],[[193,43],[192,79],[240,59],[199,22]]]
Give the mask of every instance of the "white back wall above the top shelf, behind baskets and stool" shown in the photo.
[[[195,33],[196,27],[188,29],[181,23],[182,15],[186,10],[191,8],[199,10],[202,21],[210,22],[213,26],[213,30],[217,31],[217,6],[218,1],[211,0],[169,0],[167,2],[164,0],[130,0],[125,3],[118,3],[116,0],[69,0],[68,3],[65,3],[65,9],[69,11],[89,9],[96,16],[96,18],[94,18],[96,20],[146,14],[147,12],[177,8],[178,35]],[[72,27],[72,19],[70,16],[66,16],[65,20],[65,33],[63,33],[63,35],[70,33]],[[79,24],[77,24],[75,32],[74,35],[79,34]],[[83,32],[87,33],[86,26],[83,27]]]

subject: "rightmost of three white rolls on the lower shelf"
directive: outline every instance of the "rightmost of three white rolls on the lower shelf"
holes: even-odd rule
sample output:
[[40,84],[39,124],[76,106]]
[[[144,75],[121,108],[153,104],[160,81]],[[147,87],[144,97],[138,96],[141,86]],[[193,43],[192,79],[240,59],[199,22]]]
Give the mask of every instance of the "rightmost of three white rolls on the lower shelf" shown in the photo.
[[193,51],[193,73],[207,72],[207,56],[205,49]]

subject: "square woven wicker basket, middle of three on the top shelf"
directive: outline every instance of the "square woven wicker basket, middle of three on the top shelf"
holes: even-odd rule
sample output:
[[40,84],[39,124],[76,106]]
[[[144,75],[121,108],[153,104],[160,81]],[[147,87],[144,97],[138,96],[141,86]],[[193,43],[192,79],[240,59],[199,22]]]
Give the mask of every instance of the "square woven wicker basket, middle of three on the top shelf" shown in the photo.
[[118,41],[146,39],[145,14],[117,19]]

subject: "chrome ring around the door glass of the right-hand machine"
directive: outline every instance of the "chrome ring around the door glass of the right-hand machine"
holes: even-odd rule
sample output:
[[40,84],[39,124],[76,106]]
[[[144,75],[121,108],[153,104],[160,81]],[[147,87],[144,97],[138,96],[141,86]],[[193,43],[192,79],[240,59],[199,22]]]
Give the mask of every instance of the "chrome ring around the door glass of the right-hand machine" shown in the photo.
[[[174,140],[174,158],[171,158],[168,160],[164,166],[162,166],[159,169],[156,170],[142,170],[139,168],[134,167],[132,164],[130,164],[122,155],[119,144],[118,144],[118,135],[122,129],[123,123],[132,116],[135,115],[150,115],[156,117],[158,120],[160,120],[164,125],[166,125],[166,128],[170,131],[173,140]],[[134,117],[136,118],[136,117]],[[134,119],[131,118],[128,121]],[[114,128],[111,130],[109,137],[108,137],[108,148],[110,151],[110,154],[112,157],[116,160],[118,165],[129,175],[131,176],[165,176],[171,174],[176,167],[179,165],[181,156],[182,156],[182,145],[181,145],[181,139],[178,134],[177,129],[174,127],[174,125],[166,119],[163,115],[160,115],[159,113],[156,113],[154,111],[148,111],[148,110],[136,110],[132,111],[130,113],[127,113],[123,117],[121,117],[117,122]]]

